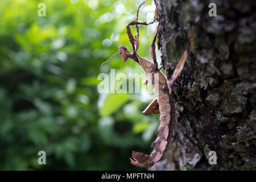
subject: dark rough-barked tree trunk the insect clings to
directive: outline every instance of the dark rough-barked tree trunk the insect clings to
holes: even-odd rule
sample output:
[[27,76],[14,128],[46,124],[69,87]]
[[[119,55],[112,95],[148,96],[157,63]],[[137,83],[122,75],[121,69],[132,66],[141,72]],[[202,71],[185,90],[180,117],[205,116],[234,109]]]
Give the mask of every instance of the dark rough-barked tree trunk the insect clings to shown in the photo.
[[[255,2],[155,2],[167,76],[187,46],[187,32],[193,37],[174,88],[173,137],[150,169],[255,170]],[[217,5],[216,17],[208,15],[211,2]],[[216,151],[216,165],[209,164],[209,151]]]

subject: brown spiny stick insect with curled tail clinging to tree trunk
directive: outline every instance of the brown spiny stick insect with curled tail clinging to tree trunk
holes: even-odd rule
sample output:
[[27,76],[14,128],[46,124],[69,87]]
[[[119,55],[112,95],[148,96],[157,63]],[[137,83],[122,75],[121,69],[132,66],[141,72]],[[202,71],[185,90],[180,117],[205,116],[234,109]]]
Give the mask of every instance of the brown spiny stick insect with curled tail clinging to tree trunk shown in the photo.
[[[176,81],[177,77],[179,76],[180,72],[184,67],[185,60],[187,60],[187,50],[189,46],[184,51],[179,62],[177,63],[172,78],[167,79],[167,77],[159,71],[158,63],[156,61],[155,41],[156,36],[158,35],[158,23],[150,47],[150,55],[153,62],[143,57],[140,57],[137,54],[137,50],[139,47],[139,25],[148,26],[149,24],[154,23],[156,20],[156,15],[158,13],[158,7],[156,7],[154,20],[152,22],[140,22],[138,20],[138,15],[139,9],[143,4],[144,2],[142,2],[141,5],[138,7],[137,20],[134,20],[126,25],[127,35],[129,38],[129,42],[133,47],[133,52],[128,51],[125,46],[120,46],[119,51],[115,53],[112,57],[110,57],[110,59],[102,63],[101,67],[105,63],[108,63],[108,61],[113,59],[113,57],[115,57],[118,54],[121,56],[123,62],[125,62],[128,58],[133,59],[141,66],[144,73],[146,74],[146,80],[144,80],[143,83],[147,84],[149,82],[152,85],[155,94],[157,95],[155,100],[152,101],[142,112],[144,115],[160,113],[160,125],[158,130],[156,130],[155,132],[157,138],[154,142],[152,142],[151,145],[151,147],[154,148],[154,150],[151,152],[150,155],[143,154],[142,152],[133,151],[132,158],[130,158],[131,164],[134,164],[135,166],[138,167],[149,168],[162,158],[163,153],[167,148],[168,142],[170,142],[171,139],[172,128],[174,126],[174,103],[171,99],[171,91],[174,82]],[[130,26],[134,25],[137,28],[137,34],[135,36],[131,34],[130,30]]]

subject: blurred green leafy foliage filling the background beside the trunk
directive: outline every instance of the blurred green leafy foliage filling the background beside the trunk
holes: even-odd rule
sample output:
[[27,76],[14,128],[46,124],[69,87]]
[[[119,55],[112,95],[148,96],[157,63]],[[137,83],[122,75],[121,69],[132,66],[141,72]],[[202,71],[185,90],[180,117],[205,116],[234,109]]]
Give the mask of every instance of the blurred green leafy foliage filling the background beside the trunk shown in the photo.
[[[38,16],[41,2],[46,17]],[[0,169],[138,169],[131,151],[150,152],[158,117],[141,114],[150,101],[140,94],[98,94],[97,75],[118,46],[131,49],[125,25],[140,2],[0,0]],[[152,15],[149,1],[140,18]],[[140,28],[143,57],[153,31]],[[110,67],[142,72],[118,56],[104,72]]]

